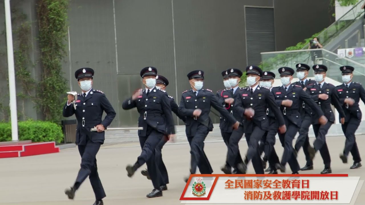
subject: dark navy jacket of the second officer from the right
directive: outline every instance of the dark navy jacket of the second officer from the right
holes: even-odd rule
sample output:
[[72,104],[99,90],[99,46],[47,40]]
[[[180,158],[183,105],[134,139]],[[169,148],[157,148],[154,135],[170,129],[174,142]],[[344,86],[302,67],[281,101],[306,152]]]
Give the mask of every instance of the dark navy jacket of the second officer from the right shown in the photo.
[[[345,117],[345,113],[343,112],[342,105],[339,102],[337,90],[335,89],[334,85],[323,82],[322,88],[319,88],[317,83],[309,84],[307,86],[306,92],[310,94],[312,99],[320,106],[324,116],[326,116],[328,121],[331,123],[335,122],[335,115],[332,112],[331,104],[337,109],[340,118]],[[328,99],[319,99],[319,94],[327,94]],[[319,124],[318,119],[316,119],[314,113],[312,113],[312,124]]]

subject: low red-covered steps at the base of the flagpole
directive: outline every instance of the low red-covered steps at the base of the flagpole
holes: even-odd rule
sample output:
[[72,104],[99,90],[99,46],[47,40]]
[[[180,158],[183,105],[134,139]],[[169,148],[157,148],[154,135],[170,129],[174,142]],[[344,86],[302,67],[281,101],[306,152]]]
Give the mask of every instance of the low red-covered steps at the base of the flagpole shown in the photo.
[[55,142],[0,142],[0,158],[12,158],[59,152]]

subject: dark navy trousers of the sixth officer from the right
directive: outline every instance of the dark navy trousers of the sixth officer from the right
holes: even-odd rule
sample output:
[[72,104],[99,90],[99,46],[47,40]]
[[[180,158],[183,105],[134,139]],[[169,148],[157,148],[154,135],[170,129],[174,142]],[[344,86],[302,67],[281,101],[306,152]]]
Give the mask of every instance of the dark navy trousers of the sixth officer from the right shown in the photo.
[[254,126],[252,133],[245,133],[246,142],[249,147],[246,154],[246,160],[247,162],[252,160],[252,166],[256,174],[264,174],[264,167],[262,167],[258,142],[265,135],[265,132],[266,131],[260,127]]

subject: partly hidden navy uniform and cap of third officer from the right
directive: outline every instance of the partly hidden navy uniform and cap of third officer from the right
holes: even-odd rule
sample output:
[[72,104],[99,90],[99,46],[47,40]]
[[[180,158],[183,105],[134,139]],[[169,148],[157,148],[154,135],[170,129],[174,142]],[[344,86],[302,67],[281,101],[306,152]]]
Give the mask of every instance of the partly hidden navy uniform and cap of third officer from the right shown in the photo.
[[[296,71],[300,72],[300,71],[309,71],[311,69],[310,66],[304,64],[304,63],[298,63],[296,66]],[[301,88],[306,88],[306,86],[308,86],[309,84],[313,84],[315,83],[315,80],[312,79],[308,79],[305,78],[304,80],[300,80],[293,83],[293,85],[299,85],[301,86]],[[313,150],[313,147],[310,146],[309,143],[309,136],[308,136],[308,132],[309,132],[309,127],[311,126],[312,123],[312,118],[311,118],[311,114],[312,114],[312,109],[308,106],[308,104],[306,104],[304,101],[301,102],[301,106],[299,107],[299,112],[300,112],[300,116],[301,116],[301,127],[299,129],[299,136],[295,142],[295,151],[298,152],[300,150],[301,147],[303,147],[303,152],[304,155],[306,155],[306,166],[304,166],[303,168],[301,168],[300,170],[302,171],[306,171],[306,170],[312,170],[313,169],[313,159],[309,153],[308,150]]]

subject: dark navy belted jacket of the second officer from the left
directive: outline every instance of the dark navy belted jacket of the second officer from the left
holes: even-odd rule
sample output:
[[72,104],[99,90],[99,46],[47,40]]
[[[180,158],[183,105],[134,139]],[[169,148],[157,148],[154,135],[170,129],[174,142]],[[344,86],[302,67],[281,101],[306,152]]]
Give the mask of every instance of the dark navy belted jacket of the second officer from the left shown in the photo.
[[149,95],[146,89],[137,99],[128,98],[123,101],[122,108],[125,110],[137,108],[139,113],[138,136],[146,136],[147,125],[165,135],[175,134],[174,120],[171,113],[171,100],[165,90],[153,88]]

